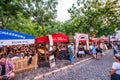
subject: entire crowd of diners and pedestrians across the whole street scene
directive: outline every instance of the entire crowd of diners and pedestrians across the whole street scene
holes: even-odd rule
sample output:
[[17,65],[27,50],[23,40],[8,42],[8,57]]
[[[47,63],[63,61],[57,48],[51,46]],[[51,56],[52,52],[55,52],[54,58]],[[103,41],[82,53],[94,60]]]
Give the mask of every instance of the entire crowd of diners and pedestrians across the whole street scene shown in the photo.
[[[45,46],[46,50],[50,55],[54,55],[55,58],[68,59],[70,60],[70,64],[74,63],[75,57],[75,45],[73,43],[56,43],[52,46],[52,51],[49,50],[49,46]],[[38,48],[43,48],[43,45],[40,45]],[[113,42],[111,45],[108,43],[90,43],[89,48],[87,48],[86,43],[79,43],[77,49],[77,58],[83,58],[86,54],[92,55],[94,59],[101,59],[104,56],[105,50],[113,48],[114,59],[116,62],[113,63],[112,70],[110,71],[109,76],[120,74],[120,55],[118,55],[118,50],[120,50],[120,45],[116,42]],[[9,61],[17,59],[17,58],[25,58],[29,56],[34,56],[35,54],[35,46],[34,45],[19,45],[19,46],[3,46],[0,47],[0,53],[4,53],[5,55],[0,55],[0,79],[9,78],[9,80],[13,80],[15,77],[15,68],[12,62]],[[37,52],[36,52],[37,53]],[[115,74],[114,74],[115,73]],[[112,76],[113,78],[113,76]],[[4,80],[4,79],[3,79]],[[117,79],[113,79],[117,80]],[[118,79],[119,80],[119,79]]]

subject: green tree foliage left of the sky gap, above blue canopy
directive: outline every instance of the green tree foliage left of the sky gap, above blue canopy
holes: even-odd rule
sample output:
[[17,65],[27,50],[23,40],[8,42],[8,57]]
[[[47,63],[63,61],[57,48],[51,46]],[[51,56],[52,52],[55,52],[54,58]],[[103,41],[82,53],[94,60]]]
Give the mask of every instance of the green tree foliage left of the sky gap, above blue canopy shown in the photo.
[[56,5],[57,0],[0,0],[0,28],[34,36],[54,33]]

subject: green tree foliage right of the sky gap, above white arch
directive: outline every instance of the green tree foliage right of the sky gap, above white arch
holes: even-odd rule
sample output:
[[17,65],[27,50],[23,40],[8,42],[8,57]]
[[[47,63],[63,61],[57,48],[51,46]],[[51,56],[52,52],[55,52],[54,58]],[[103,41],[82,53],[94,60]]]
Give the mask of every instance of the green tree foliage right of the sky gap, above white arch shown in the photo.
[[90,34],[90,27],[93,27],[91,33],[96,33],[97,36],[114,33],[120,22],[119,6],[119,0],[78,0],[77,7],[73,4],[68,10],[74,32]]

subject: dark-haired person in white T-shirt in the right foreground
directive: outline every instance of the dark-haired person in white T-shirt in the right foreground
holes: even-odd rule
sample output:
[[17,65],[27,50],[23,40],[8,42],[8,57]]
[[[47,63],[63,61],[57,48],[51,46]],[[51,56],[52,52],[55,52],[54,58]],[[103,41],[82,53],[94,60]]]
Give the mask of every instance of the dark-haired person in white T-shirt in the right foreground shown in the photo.
[[120,80],[120,54],[115,54],[114,60],[115,62],[112,64],[109,76],[111,77],[111,80]]

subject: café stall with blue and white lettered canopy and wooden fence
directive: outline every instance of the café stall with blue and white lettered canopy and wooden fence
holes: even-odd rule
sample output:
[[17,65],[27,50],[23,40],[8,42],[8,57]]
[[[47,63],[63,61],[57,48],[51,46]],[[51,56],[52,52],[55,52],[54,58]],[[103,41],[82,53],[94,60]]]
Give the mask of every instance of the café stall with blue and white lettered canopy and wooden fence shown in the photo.
[[14,63],[15,72],[37,68],[37,55],[34,53],[34,46],[30,48],[30,45],[34,45],[34,36],[0,30],[0,47],[4,49],[1,53],[6,54],[6,58]]

